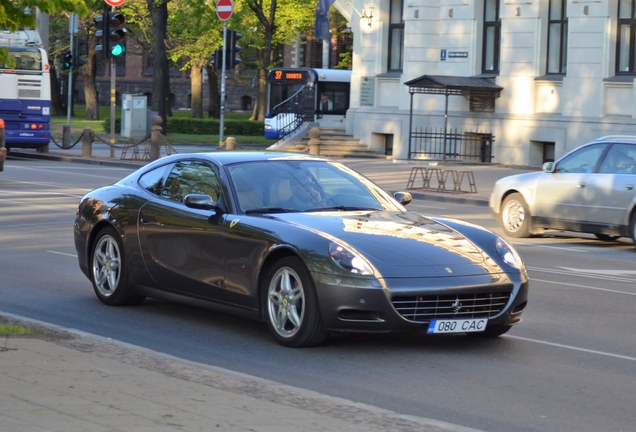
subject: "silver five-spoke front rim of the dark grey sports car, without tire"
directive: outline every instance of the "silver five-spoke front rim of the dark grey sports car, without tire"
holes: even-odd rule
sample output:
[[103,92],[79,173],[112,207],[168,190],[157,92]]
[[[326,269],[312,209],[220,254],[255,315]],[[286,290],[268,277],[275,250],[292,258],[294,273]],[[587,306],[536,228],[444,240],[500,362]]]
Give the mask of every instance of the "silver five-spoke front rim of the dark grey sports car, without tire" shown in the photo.
[[293,337],[305,317],[305,291],[300,276],[290,267],[281,267],[272,277],[267,291],[269,319],[276,333]]

